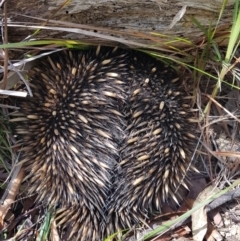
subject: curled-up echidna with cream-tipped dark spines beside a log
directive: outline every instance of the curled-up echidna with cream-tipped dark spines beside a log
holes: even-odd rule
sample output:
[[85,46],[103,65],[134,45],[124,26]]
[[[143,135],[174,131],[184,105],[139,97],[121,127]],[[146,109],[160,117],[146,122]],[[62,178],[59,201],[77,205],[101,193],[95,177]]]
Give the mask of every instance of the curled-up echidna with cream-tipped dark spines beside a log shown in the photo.
[[29,192],[57,208],[70,240],[101,240],[175,197],[195,131],[173,69],[98,47],[42,59],[30,81],[16,128]]

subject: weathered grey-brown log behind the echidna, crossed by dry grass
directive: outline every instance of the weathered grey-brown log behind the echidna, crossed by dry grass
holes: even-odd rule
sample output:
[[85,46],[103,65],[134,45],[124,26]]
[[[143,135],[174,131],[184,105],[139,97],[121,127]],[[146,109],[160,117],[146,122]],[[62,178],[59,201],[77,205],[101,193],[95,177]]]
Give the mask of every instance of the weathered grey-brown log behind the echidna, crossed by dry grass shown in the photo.
[[[8,0],[8,17],[12,22],[28,22],[35,20],[23,17],[49,18],[60,8],[65,0]],[[203,32],[192,22],[197,19],[203,27],[215,26],[222,0],[72,0],[54,15],[55,20],[62,20],[94,27],[106,27],[111,30],[125,32],[141,31],[159,32],[198,40]],[[220,26],[227,28],[232,21],[234,0],[229,0]],[[184,12],[184,7],[186,11]],[[176,17],[182,9],[183,17]],[[21,15],[19,15],[21,14]],[[180,14],[180,13],[179,13]],[[173,20],[177,19],[173,24]],[[173,26],[171,26],[173,25]],[[93,31],[93,30],[92,30]],[[33,29],[10,28],[9,39],[16,42],[33,33]],[[95,31],[96,32],[96,31]],[[86,36],[67,32],[41,31],[38,38],[71,38],[85,39]],[[135,40],[134,36],[125,39]],[[139,39],[138,39],[139,40]],[[141,42],[147,42],[141,39]]]

